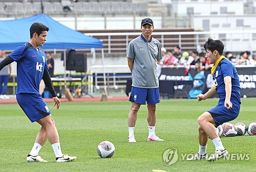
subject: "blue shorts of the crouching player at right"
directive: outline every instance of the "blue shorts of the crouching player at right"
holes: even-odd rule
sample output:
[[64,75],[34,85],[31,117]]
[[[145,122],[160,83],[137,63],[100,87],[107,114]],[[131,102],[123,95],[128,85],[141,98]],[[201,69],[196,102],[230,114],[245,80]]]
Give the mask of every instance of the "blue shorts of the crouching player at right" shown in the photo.
[[223,105],[217,105],[216,107],[207,110],[214,118],[216,127],[222,125],[224,122],[236,119],[240,112],[240,104],[233,104],[231,109],[225,108]]

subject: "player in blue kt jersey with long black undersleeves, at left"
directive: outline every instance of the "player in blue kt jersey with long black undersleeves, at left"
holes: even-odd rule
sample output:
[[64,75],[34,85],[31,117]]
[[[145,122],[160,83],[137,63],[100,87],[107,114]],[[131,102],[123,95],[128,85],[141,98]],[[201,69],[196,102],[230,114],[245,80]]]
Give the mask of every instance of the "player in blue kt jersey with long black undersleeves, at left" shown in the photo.
[[17,62],[17,102],[31,122],[36,121],[41,125],[33,148],[27,156],[28,162],[47,162],[38,156],[41,146],[44,145],[47,139],[52,145],[56,162],[68,162],[76,159],[76,157],[62,154],[51,111],[39,93],[39,84],[43,79],[53,96],[54,106],[59,109],[60,100],[56,96],[51,82],[45,52],[38,47],[44,45],[48,31],[49,28],[44,24],[33,23],[30,27],[30,41],[18,46],[0,63],[1,70],[13,61]]

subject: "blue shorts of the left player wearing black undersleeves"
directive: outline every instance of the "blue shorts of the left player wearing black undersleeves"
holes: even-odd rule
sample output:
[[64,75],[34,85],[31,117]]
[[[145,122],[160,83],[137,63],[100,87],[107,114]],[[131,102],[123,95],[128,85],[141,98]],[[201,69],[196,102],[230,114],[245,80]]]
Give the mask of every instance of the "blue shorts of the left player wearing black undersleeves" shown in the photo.
[[20,93],[16,95],[17,102],[31,122],[51,114],[50,109],[40,94]]

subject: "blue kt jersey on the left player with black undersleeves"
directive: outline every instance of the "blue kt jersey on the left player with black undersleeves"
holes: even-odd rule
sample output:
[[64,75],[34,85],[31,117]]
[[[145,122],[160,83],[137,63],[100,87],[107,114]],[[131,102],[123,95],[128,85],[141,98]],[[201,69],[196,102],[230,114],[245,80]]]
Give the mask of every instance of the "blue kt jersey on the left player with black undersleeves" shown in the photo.
[[[26,48],[26,50],[25,50]],[[36,50],[30,43],[18,46],[9,56],[17,62],[17,90],[19,93],[39,93],[39,84],[48,70],[46,54],[41,49]]]

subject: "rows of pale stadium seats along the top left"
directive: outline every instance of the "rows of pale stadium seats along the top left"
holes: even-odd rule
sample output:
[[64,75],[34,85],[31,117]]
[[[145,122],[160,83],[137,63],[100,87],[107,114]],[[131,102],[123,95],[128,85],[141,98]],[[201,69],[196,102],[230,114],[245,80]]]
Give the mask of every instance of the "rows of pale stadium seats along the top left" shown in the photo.
[[[146,3],[132,3],[130,1],[43,1],[46,14],[147,14]],[[0,15],[35,15],[41,13],[40,1],[2,1]]]

